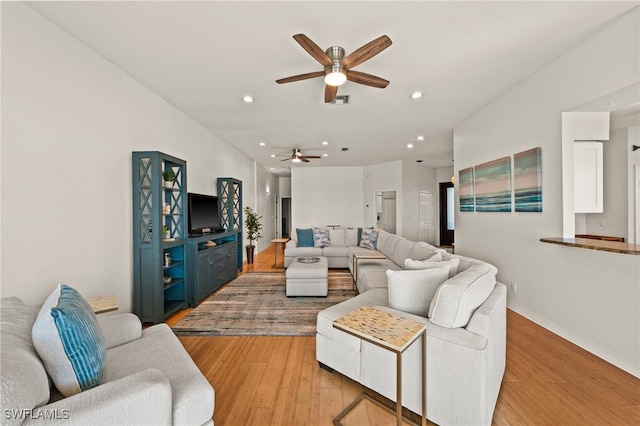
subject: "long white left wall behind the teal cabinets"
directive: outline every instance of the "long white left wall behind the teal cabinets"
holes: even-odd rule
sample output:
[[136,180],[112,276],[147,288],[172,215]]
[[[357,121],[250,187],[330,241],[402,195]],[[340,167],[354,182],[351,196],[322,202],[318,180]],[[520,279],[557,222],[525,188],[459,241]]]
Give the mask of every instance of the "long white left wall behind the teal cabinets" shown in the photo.
[[132,300],[131,152],[185,159],[188,190],[253,162],[22,3],[2,5],[2,296],[57,283]]

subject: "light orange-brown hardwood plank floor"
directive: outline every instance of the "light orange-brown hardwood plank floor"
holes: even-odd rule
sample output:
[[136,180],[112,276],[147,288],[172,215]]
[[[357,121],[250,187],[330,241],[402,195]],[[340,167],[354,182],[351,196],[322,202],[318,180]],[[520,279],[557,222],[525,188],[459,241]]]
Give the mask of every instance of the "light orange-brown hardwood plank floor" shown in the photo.
[[[273,250],[258,253],[244,272],[273,271]],[[216,391],[216,426],[329,426],[362,391],[318,367],[315,337],[180,340]],[[640,380],[508,310],[507,367],[493,423],[640,425]],[[395,425],[395,419],[365,402],[344,424]]]

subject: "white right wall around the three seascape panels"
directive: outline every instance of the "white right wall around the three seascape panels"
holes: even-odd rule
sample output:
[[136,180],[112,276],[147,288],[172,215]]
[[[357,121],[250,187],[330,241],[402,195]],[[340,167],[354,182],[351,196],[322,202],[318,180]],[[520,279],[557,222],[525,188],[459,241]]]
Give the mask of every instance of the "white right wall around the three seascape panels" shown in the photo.
[[[456,253],[517,283],[509,306],[640,376],[640,256],[541,243],[562,236],[561,113],[638,81],[638,9],[454,129],[457,172],[542,147],[542,213],[456,212]],[[603,72],[603,67],[606,72]],[[456,204],[458,208],[458,204]]]

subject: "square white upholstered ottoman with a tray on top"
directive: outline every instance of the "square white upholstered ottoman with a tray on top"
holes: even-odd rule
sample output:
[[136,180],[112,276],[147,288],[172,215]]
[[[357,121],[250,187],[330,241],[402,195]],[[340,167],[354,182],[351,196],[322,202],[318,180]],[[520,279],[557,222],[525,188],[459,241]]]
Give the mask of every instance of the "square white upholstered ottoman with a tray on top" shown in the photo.
[[[302,261],[300,261],[302,259]],[[326,257],[314,257],[317,262],[305,262],[297,257],[287,268],[287,297],[327,296],[329,291],[329,266]]]

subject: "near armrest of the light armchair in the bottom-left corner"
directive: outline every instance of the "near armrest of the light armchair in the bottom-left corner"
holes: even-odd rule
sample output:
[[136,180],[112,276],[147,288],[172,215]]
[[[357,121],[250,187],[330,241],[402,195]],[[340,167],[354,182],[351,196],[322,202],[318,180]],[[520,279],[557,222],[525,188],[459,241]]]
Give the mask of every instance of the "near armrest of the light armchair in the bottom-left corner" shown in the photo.
[[171,410],[169,379],[149,368],[34,408],[23,425],[170,425]]

